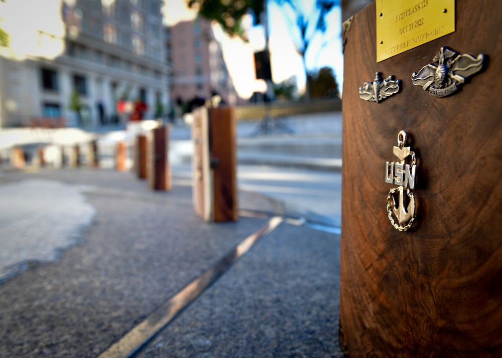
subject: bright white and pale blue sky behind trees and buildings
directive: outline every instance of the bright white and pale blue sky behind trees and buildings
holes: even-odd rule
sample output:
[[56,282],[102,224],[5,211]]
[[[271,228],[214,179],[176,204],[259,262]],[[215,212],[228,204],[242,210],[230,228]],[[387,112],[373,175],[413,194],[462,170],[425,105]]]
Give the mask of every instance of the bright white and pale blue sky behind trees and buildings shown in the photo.
[[[187,9],[184,0],[164,0],[164,2],[166,4],[164,11],[166,24],[174,25],[180,21],[193,20],[195,17],[195,12]],[[306,6],[307,14],[314,3],[315,0],[303,0],[302,4]],[[273,0],[269,1],[268,4],[269,48],[273,80],[275,83],[281,83],[296,76],[298,87],[303,89],[306,81],[305,70],[301,57],[293,44],[288,27],[289,23],[284,17],[284,9],[281,9]],[[324,34],[318,32],[314,36],[306,54],[307,69],[312,71],[325,66],[333,68],[341,91],[343,56],[341,52],[340,8],[333,9],[325,20],[327,31]],[[212,28],[217,41],[222,45],[223,57],[237,94],[241,98],[249,98],[254,91],[263,88],[263,81],[255,79],[253,53],[264,48],[265,38],[262,26],[252,27],[250,19],[246,19],[244,23],[248,28],[249,43],[244,43],[237,38],[230,39],[217,24],[213,25]]]

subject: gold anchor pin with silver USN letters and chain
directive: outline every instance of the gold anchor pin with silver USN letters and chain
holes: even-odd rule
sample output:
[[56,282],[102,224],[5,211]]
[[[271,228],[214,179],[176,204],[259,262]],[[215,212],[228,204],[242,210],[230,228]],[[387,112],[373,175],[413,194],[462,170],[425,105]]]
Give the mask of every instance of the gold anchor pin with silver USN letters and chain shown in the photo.
[[[405,147],[407,138],[404,130],[399,132],[394,154],[400,161],[386,163],[385,182],[398,186],[389,192],[387,213],[392,225],[399,231],[408,230],[415,221],[416,203],[411,189],[415,189],[417,158],[410,147]],[[406,163],[407,159],[409,163]]]

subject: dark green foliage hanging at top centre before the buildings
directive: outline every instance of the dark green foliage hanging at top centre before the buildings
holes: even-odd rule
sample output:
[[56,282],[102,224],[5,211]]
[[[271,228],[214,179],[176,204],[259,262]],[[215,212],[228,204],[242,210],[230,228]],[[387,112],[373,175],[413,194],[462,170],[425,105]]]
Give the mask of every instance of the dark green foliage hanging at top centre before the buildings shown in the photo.
[[255,15],[255,24],[259,24],[263,12],[262,0],[190,0],[188,6],[197,9],[202,17],[216,21],[229,36],[238,36],[245,41],[242,17],[251,11]]

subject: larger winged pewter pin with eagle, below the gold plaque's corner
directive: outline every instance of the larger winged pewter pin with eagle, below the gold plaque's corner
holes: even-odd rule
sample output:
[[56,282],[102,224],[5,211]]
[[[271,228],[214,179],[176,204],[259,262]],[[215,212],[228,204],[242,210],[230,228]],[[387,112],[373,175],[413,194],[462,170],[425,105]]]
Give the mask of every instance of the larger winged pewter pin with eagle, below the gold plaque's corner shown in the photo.
[[484,55],[477,57],[459,55],[448,47],[442,47],[427,66],[418,73],[413,73],[411,79],[416,86],[429,88],[429,93],[436,97],[452,94],[465,79],[479,72],[483,67]]

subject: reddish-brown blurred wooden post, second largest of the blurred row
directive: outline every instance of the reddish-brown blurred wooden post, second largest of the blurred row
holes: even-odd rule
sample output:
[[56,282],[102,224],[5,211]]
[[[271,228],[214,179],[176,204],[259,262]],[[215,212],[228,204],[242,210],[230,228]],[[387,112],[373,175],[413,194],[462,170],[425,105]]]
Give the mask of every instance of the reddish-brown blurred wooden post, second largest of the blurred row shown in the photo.
[[155,128],[148,133],[147,176],[154,190],[171,190],[168,148],[169,127]]

